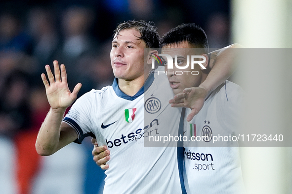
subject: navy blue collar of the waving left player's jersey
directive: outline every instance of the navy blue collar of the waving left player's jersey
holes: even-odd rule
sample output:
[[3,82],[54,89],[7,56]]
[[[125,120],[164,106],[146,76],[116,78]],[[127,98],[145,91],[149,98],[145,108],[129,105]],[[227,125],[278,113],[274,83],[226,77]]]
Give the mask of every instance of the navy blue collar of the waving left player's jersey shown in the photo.
[[132,97],[126,95],[124,92],[122,92],[120,90],[119,85],[118,85],[118,78],[116,78],[116,77],[114,79],[112,87],[113,87],[113,89],[118,97],[122,97],[124,99],[132,101],[132,100],[136,99],[137,97],[141,96],[144,93],[144,91],[146,91],[151,86],[153,81],[154,81],[154,71],[151,71],[147,80],[145,81],[144,85],[142,86],[142,88],[140,88],[140,90]]

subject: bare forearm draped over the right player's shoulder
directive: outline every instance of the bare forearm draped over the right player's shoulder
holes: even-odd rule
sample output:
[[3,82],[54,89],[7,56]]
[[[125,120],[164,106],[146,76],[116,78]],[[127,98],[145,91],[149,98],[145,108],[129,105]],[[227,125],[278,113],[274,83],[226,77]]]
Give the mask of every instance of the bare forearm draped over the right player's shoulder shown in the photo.
[[199,86],[207,90],[207,96],[225,80],[227,80],[235,71],[236,49],[242,47],[239,44],[232,44],[222,49],[213,51],[210,55],[209,72],[205,81]]

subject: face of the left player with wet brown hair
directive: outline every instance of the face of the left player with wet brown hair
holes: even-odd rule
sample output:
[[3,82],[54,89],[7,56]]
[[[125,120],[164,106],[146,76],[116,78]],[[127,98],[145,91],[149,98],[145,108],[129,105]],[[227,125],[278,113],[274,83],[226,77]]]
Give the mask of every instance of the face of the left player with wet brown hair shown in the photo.
[[140,36],[135,29],[125,29],[113,39],[110,55],[115,77],[131,81],[143,76],[146,43],[138,40]]

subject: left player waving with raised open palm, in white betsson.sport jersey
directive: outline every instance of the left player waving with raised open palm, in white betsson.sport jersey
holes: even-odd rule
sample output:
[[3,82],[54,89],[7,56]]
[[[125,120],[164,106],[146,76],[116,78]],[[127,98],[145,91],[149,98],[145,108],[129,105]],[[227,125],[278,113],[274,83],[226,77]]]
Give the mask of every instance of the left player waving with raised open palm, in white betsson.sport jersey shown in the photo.
[[[149,117],[149,124],[145,126],[142,119],[143,96],[172,98],[171,89],[159,84],[167,78],[148,73],[151,55],[158,51],[148,49],[144,58],[144,48],[158,46],[159,35],[154,26],[143,21],[120,24],[112,41],[111,64],[116,77],[113,85],[80,97],[64,120],[64,112],[76,99],[81,84],[71,93],[65,66],[60,66],[60,73],[58,62],[54,61],[53,75],[46,65],[49,83],[44,74],[42,80],[51,108],[37,137],[37,152],[51,155],[73,141],[81,143],[86,136],[96,137],[100,145],[107,145],[112,152],[112,170],[106,172],[104,193],[182,193],[176,148],[143,147],[146,135],[155,135],[167,127],[177,130],[178,119],[167,120],[161,113],[171,114],[173,118],[180,115],[179,109],[161,103],[153,120]],[[221,71],[222,77],[231,74],[224,66]],[[217,81],[213,81],[214,85]],[[206,84],[205,95],[214,85]]]

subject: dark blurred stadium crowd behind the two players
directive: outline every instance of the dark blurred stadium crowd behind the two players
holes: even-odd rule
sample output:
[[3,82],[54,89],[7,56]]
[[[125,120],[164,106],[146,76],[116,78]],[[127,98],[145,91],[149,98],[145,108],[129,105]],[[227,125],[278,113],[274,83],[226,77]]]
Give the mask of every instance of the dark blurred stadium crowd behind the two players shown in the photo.
[[92,160],[90,138],[49,157],[35,151],[49,110],[44,65],[65,64],[69,88],[82,83],[81,96],[112,84],[109,52],[118,23],[151,20],[162,36],[193,22],[206,30],[210,48],[218,48],[230,44],[228,15],[228,0],[1,1],[0,193],[102,192],[105,175]]

